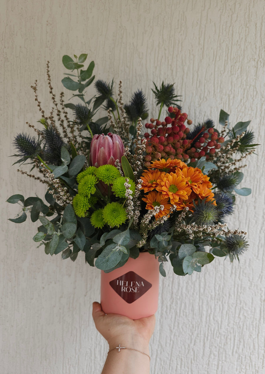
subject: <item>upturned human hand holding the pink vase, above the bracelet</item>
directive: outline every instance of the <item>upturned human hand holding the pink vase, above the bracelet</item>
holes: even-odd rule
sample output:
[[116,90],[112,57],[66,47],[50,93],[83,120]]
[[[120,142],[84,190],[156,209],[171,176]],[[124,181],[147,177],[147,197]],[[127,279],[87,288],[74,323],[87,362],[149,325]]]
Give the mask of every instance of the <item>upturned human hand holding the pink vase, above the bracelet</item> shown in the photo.
[[105,314],[101,304],[93,303],[96,329],[108,341],[110,348],[117,344],[146,350],[155,328],[155,316],[130,319],[120,314]]

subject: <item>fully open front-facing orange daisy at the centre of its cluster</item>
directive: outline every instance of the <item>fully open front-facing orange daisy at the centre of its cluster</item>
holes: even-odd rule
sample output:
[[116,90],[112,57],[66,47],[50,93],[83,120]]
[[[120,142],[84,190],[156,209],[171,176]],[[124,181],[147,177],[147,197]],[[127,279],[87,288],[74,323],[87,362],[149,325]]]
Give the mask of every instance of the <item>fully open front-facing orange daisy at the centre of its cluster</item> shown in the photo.
[[164,197],[170,198],[170,203],[175,204],[181,200],[187,200],[191,194],[186,179],[181,172],[167,173],[161,175],[161,179],[157,181],[157,191],[161,192]]

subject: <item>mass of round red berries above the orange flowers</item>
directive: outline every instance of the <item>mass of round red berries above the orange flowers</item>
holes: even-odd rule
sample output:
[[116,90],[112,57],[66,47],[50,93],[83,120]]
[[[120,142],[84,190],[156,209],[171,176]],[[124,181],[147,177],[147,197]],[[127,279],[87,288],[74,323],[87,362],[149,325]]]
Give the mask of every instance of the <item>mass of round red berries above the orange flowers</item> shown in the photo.
[[[210,154],[215,153],[216,149],[221,147],[224,138],[218,138],[217,132],[212,128],[208,130],[208,133],[201,130],[201,138],[196,141],[194,147],[191,148],[191,143],[194,139],[186,139],[189,132],[184,122],[187,120],[188,114],[181,113],[178,108],[169,107],[169,113],[175,114],[175,118],[167,116],[163,122],[150,119],[150,123],[145,124],[145,128],[151,130],[151,134],[146,132],[144,137],[147,139],[145,151],[145,167],[151,165],[151,161],[158,160],[160,158],[180,159],[187,162],[188,159],[193,162],[196,159],[204,156],[207,152]],[[191,125],[192,121],[187,120],[187,125]],[[211,139],[209,139],[211,134]],[[198,134],[196,135],[197,138]],[[206,145],[204,146],[204,143]],[[213,148],[212,148],[213,147]],[[209,159],[209,154],[206,158]]]

